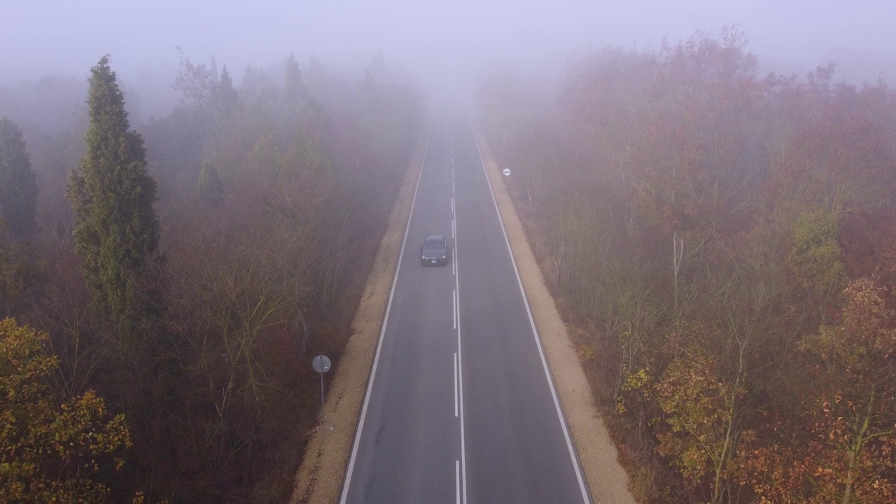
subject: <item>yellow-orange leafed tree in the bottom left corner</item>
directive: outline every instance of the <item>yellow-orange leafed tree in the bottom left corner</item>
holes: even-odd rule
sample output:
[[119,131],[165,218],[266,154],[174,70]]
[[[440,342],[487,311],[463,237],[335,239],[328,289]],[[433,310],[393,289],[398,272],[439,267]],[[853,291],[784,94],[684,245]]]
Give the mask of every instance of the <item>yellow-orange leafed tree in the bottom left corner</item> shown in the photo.
[[125,417],[87,391],[59,405],[47,335],[0,321],[0,502],[99,502],[131,446]]

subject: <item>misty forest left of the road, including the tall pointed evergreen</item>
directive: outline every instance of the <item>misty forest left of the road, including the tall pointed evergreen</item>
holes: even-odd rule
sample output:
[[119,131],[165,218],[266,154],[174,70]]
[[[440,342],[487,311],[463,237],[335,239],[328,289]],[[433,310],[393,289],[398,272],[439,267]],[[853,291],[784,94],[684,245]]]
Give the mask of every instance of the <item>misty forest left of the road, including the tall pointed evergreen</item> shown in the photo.
[[423,100],[382,54],[181,52],[137,124],[114,63],[0,89],[0,501],[287,500]]

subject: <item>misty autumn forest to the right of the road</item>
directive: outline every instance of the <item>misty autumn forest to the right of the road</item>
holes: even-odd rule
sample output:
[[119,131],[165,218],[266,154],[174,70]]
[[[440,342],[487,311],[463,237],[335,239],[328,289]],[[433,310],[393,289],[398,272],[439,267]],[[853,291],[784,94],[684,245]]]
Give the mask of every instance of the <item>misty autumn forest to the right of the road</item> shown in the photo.
[[896,92],[759,68],[601,48],[478,123],[639,501],[892,503]]

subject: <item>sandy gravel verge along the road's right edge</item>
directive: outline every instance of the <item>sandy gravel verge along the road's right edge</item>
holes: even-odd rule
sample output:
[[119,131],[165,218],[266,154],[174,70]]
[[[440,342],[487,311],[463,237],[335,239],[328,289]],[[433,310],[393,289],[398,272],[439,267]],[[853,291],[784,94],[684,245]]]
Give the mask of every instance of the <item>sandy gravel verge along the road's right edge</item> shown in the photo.
[[547,291],[513,201],[504,190],[501,170],[485,139],[478,131],[475,133],[591,498],[595,504],[635,504],[628,490],[628,475],[616,459],[616,445],[594,404],[579,356],[557,312],[554,298]]

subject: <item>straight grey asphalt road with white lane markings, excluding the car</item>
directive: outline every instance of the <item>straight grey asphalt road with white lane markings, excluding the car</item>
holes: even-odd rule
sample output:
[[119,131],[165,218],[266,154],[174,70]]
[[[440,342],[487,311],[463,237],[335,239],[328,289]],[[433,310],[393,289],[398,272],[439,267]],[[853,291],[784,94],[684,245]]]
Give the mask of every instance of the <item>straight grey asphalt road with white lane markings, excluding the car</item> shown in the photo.
[[[340,504],[590,502],[491,190],[436,117]],[[420,265],[432,234],[449,265]]]

